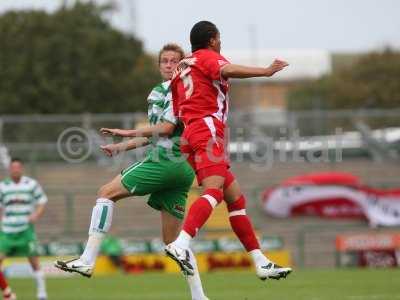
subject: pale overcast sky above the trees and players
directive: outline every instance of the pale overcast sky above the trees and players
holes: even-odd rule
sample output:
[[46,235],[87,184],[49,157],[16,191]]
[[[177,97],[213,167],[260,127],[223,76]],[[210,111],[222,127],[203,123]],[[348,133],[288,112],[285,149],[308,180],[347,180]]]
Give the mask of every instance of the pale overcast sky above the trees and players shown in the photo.
[[[69,0],[68,2],[74,2]],[[8,9],[52,11],[62,0],[0,0]],[[104,3],[107,0],[98,0]],[[189,49],[191,26],[202,19],[216,23],[225,49],[326,49],[367,51],[400,48],[399,0],[115,0],[109,16],[125,30],[135,30],[156,52],[175,41]]]

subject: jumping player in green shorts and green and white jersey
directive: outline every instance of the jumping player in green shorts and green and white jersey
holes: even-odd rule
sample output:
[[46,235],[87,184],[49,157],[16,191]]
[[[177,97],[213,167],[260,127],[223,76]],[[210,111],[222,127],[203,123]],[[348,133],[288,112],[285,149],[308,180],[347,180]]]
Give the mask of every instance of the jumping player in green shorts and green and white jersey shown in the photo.
[[[164,81],[153,88],[147,99],[150,126],[137,130],[101,129],[103,134],[129,136],[135,131],[135,136],[139,136],[127,142],[102,146],[108,156],[148,144],[152,144],[153,148],[144,160],[123,170],[99,189],[83,254],[70,261],[56,261],[57,268],[90,277],[101,241],[111,226],[115,202],[132,195],[150,194],[148,204],[161,213],[165,244],[177,237],[185,213],[187,194],[194,179],[191,166],[179,150],[182,127],[173,114],[169,87],[173,71],[183,57],[183,50],[175,44],[165,45],[159,53],[159,69]],[[186,276],[192,299],[207,299],[193,253],[190,252],[188,257],[195,266],[194,275]]]

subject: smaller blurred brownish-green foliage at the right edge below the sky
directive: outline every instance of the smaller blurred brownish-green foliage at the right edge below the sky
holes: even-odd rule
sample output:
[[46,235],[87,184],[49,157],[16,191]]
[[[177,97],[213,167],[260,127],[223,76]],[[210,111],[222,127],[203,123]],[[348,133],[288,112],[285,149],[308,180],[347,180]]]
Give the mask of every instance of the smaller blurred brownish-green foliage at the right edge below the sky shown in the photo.
[[400,52],[386,49],[360,57],[348,68],[296,88],[289,109],[398,108]]

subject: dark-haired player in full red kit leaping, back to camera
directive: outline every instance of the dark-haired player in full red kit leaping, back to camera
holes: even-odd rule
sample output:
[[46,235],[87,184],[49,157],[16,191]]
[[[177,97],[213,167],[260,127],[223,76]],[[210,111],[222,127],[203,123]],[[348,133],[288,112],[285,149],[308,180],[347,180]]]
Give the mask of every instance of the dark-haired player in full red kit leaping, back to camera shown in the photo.
[[260,250],[250,219],[246,200],[229,170],[225,152],[228,115],[229,78],[270,77],[288,64],[275,60],[269,67],[247,67],[231,64],[221,54],[220,34],[208,21],[196,23],[190,32],[192,55],[183,59],[175,70],[171,88],[175,115],[183,122],[181,151],[196,171],[203,194],[190,207],[178,238],[165,251],[181,269],[192,272],[188,261],[189,244],[206,223],[213,209],[226,201],[229,221],[248,253],[257,276],[285,278],[292,270],[270,261]]

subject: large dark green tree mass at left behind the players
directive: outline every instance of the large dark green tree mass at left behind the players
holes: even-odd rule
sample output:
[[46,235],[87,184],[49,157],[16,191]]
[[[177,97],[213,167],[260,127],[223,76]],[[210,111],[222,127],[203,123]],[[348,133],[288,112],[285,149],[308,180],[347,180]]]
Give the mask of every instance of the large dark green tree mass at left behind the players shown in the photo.
[[104,20],[109,9],[77,2],[1,15],[0,113],[144,110],[156,65],[138,39]]

